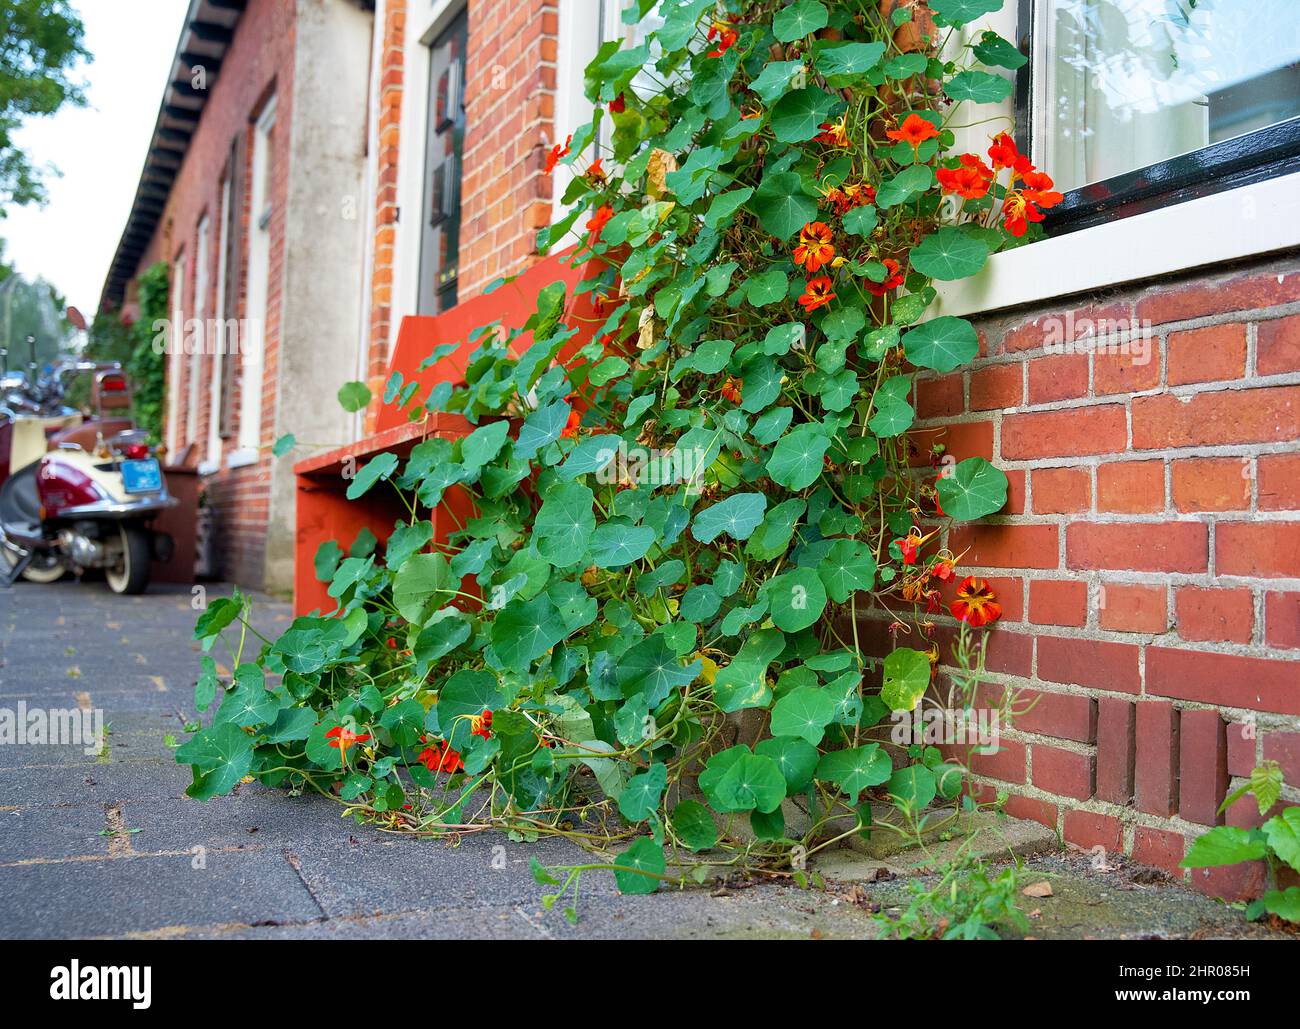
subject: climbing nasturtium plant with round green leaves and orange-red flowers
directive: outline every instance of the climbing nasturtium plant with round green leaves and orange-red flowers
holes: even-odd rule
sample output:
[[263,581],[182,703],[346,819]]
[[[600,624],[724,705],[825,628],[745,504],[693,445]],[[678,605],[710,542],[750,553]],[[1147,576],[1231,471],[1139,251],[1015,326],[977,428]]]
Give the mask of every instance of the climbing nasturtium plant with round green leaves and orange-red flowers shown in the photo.
[[[320,548],[337,609],[278,639],[242,596],[199,618],[237,672],[205,659],[196,699],[221,703],[177,752],[191,795],[251,776],[395,829],[568,835],[618,851],[632,893],[789,868],[870,832],[872,802],[954,800],[957,767],[889,746],[885,718],[935,683],[944,526],[1006,499],[988,461],[909,435],[914,373],[979,349],[932,317],[936,283],[1060,199],[1005,133],[952,152],[958,101],[1004,97],[1015,48],[939,43],[997,6],[664,0],[647,40],[602,47],[593,118],[546,162],[576,170],[571,210],[538,240],[572,242],[585,278],[442,342],[425,364],[460,346],[462,382],[389,383],[411,421],[468,427],[356,472],[350,498],[395,491],[410,517]],[[959,598],[997,617],[983,581]],[[913,646],[871,650],[870,611]],[[534,867],[551,903],[580,870]]]

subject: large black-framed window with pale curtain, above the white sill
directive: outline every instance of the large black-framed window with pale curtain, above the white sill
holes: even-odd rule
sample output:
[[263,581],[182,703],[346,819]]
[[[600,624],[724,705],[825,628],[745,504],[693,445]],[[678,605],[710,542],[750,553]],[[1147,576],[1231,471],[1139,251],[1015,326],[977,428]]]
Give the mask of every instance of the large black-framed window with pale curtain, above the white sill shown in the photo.
[[1019,14],[1020,143],[1066,194],[1049,231],[1300,169],[1294,0],[1020,0]]

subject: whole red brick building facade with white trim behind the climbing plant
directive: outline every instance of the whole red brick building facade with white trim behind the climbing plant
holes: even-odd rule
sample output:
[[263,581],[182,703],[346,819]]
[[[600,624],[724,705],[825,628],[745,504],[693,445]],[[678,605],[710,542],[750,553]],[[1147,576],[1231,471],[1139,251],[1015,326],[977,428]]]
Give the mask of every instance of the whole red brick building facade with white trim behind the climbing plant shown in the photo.
[[[255,134],[257,105],[273,91],[269,275],[278,292],[266,301],[263,446],[283,431],[309,438],[306,409],[334,407],[337,387],[312,378],[318,352],[287,348],[286,334],[337,329],[332,370],[378,394],[404,317],[438,313],[537,260],[536,230],[564,187],[542,174],[545,153],[589,117],[578,84],[588,57],[628,31],[614,0],[352,5],[368,53],[364,117],[352,126],[360,203],[355,221],[335,221],[318,207],[321,196],[338,199],[315,181],[325,153],[304,149],[299,160],[282,131],[311,123],[304,95],[325,105],[342,96],[339,82],[324,91],[328,104],[291,88],[313,66],[303,12],[322,3],[250,0],[222,69],[242,70],[229,84],[218,78],[139,262],[181,264],[194,252],[200,214],[217,203],[221,155],[233,134]],[[1257,131],[1234,121],[1234,96],[1210,91],[1188,109],[1222,112],[1216,131],[1236,134],[1231,160],[1217,162],[1218,136],[1190,144],[1182,122],[1164,156],[1134,156],[1123,127],[1105,153],[1075,153],[1079,134],[1053,129],[1041,100],[1054,82],[1041,36],[1063,22],[1018,26],[1018,5],[1005,6],[989,26],[1030,40],[1020,86],[1034,90],[1019,95],[1040,97],[1009,101],[1005,121],[1067,203],[1049,222],[1052,239],[998,255],[941,292],[933,313],[972,318],[983,347],[970,368],[923,377],[915,398],[919,461],[942,443],[957,459],[991,459],[1011,483],[1002,513],[945,540],[1004,605],[985,689],[1036,698],[975,770],[987,790],[1009,793],[1013,815],[1176,872],[1205,826],[1258,821],[1251,802],[1226,816],[1217,807],[1260,760],[1278,760],[1288,796],[1300,795],[1300,222],[1291,199],[1300,134],[1283,118],[1280,143],[1270,127],[1243,159],[1239,140]],[[1067,13],[1070,4],[1044,6]],[[967,130],[966,148],[985,147],[989,131]],[[1141,130],[1147,143],[1153,135]],[[1197,160],[1178,164],[1190,151]],[[1160,175],[1149,174],[1153,161]],[[295,249],[294,183],[312,194],[299,199],[298,238],[316,247],[333,238],[333,274],[311,247]],[[195,275],[185,266],[187,298]],[[356,309],[326,317],[328,298],[307,279],[355,298]],[[296,318],[285,308],[295,281],[309,299]],[[238,288],[246,299],[247,282]],[[177,372],[172,388],[183,394],[186,370]],[[296,407],[286,412],[290,383]],[[312,442],[364,435],[373,416],[325,426]],[[221,444],[228,463],[237,443]],[[259,548],[277,531],[286,539],[292,524],[291,498],[276,507],[274,466],[259,453],[209,485],[228,525],[224,572],[252,582]],[[946,639],[952,622],[940,622]],[[884,652],[885,621],[867,630]],[[1235,895],[1256,872],[1195,881]]]

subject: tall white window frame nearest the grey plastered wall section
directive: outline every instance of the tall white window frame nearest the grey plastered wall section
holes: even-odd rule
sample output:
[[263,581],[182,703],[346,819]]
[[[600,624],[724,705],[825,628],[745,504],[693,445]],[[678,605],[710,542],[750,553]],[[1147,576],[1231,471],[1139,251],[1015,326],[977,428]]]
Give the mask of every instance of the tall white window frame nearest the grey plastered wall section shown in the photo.
[[270,295],[272,139],[276,99],[257,117],[252,143],[252,204],[248,225],[248,318],[239,335],[239,447],[226,465],[256,464],[261,448],[261,390],[265,374],[266,308]]

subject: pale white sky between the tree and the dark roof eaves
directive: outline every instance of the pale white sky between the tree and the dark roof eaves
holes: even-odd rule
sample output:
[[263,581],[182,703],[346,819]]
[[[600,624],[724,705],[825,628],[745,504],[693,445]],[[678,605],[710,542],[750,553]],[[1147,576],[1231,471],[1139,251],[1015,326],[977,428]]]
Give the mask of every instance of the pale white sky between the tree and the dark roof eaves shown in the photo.
[[5,256],[44,277],[90,316],[135,197],[144,153],[188,0],[74,0],[94,62],[81,70],[86,108],[27,122],[16,139],[47,179],[44,208],[9,208],[0,218]]

